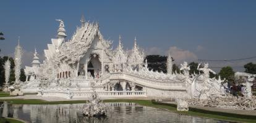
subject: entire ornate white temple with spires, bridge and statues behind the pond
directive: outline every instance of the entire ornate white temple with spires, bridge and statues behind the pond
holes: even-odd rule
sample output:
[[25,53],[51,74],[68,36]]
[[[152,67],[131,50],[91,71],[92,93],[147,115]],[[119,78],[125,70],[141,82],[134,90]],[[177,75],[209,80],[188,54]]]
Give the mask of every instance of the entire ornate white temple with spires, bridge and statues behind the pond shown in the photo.
[[[34,54],[32,66],[26,66],[25,93],[43,97],[88,98],[93,89],[101,98],[152,97],[198,98],[226,95],[224,80],[209,78],[208,64],[198,70],[203,74],[189,74],[189,66],[182,64],[182,74],[172,72],[173,60],[168,55],[168,73],[150,71],[145,54],[137,46],[130,54],[123,49],[121,36],[115,50],[112,41],[103,38],[98,23],[80,20],[81,26],[66,39],[64,22],[59,21],[57,38],[45,49],[46,60],[39,62]],[[145,62],[144,62],[145,60]],[[93,89],[92,89],[93,88]]]

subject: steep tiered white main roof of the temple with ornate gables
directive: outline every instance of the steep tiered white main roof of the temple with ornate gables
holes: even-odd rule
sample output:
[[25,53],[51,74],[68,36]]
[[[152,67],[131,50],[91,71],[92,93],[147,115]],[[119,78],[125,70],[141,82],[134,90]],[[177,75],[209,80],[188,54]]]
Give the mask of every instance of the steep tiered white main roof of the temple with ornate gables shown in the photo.
[[[109,51],[112,42],[103,39],[98,23],[85,22],[83,18],[80,21],[82,26],[77,27],[77,30],[69,41],[65,42],[63,38],[51,39],[52,44],[48,44],[48,49],[45,50],[47,60],[54,59],[56,62],[65,60],[67,63],[75,63],[85,55],[87,50],[92,46],[95,38],[98,38],[102,46],[105,47],[105,52],[109,56],[112,56],[112,52]],[[60,23],[64,25],[62,20]]]

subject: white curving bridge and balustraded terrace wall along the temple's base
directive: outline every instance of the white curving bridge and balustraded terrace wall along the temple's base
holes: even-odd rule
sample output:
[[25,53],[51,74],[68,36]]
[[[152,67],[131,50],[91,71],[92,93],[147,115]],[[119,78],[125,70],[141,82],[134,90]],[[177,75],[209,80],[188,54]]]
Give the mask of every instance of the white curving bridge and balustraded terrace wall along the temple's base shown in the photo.
[[[109,73],[99,79],[78,76],[40,82],[47,86],[37,89],[38,95],[43,97],[88,98],[93,92],[92,87],[101,98],[172,97],[176,92],[187,93],[186,84],[177,79],[150,79],[128,72]],[[35,91],[33,84],[38,86],[38,81],[31,81],[25,88]]]

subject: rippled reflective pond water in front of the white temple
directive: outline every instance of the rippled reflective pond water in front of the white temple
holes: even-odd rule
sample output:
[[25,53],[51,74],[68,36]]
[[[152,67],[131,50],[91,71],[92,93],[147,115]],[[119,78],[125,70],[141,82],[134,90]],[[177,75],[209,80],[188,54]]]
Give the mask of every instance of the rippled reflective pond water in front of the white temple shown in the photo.
[[140,106],[135,103],[106,103],[105,117],[84,117],[78,111],[79,104],[71,105],[11,105],[6,102],[0,111],[4,117],[15,117],[28,122],[223,122],[164,111],[163,109]]

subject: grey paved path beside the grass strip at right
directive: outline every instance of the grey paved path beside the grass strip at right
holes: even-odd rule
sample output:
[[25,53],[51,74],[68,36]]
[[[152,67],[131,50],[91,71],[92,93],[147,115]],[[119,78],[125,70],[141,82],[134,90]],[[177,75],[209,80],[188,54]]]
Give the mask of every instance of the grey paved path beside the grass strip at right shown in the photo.
[[[161,101],[161,102],[162,103],[177,104],[174,101]],[[205,109],[205,110],[208,110],[208,111],[218,111],[218,112],[223,112],[223,113],[245,114],[245,115],[256,116],[256,110],[213,108],[213,107],[195,106],[195,105],[189,105],[189,107],[198,108],[198,109]]]

